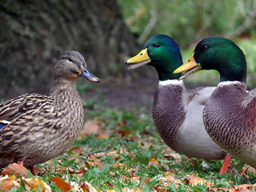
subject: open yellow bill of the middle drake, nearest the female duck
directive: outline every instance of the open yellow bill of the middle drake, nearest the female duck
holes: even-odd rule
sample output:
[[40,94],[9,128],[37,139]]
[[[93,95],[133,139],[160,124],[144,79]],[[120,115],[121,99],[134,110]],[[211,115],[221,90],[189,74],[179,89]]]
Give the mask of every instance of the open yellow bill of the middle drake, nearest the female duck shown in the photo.
[[141,50],[137,55],[135,55],[133,58],[130,58],[126,61],[126,64],[128,64],[129,70],[134,70],[140,66],[144,66],[151,62],[150,56],[147,54],[147,48],[144,50]]

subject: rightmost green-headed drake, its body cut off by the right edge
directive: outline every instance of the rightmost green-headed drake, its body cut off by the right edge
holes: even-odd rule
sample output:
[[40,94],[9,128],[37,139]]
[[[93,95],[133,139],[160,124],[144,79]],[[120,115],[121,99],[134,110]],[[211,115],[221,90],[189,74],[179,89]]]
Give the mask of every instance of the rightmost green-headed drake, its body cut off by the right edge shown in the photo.
[[227,38],[205,38],[188,62],[174,71],[217,70],[220,82],[203,110],[206,131],[224,150],[256,167],[256,91],[246,91],[246,58]]

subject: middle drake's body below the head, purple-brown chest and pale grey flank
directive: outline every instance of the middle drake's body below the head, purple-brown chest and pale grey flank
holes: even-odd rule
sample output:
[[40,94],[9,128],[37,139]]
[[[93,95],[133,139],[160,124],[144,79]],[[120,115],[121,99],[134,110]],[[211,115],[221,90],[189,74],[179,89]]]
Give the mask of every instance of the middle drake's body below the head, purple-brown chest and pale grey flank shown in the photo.
[[225,158],[226,152],[210,138],[202,121],[206,99],[215,87],[188,93],[182,81],[168,81],[169,84],[158,86],[153,105],[154,124],[162,140],[171,149],[191,157]]

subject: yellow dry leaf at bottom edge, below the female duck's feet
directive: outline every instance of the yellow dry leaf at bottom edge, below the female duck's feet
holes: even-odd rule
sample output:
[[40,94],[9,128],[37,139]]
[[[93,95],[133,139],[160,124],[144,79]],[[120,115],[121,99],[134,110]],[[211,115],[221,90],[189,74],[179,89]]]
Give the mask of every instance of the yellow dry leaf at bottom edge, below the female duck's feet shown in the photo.
[[39,178],[26,178],[24,179],[24,182],[30,186],[31,190],[51,192],[50,186]]

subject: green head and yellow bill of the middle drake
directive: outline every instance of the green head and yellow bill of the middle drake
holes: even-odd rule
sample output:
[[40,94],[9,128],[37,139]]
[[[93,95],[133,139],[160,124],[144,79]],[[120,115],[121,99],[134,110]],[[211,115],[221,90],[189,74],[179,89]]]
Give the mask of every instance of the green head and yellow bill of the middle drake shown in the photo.
[[136,56],[126,61],[130,69],[146,64],[154,66],[158,71],[160,81],[178,79],[180,74],[173,74],[174,70],[182,65],[182,55],[178,44],[173,38],[164,34],[151,37]]

